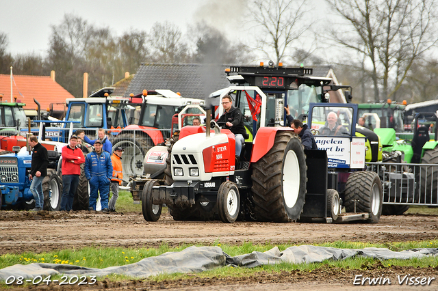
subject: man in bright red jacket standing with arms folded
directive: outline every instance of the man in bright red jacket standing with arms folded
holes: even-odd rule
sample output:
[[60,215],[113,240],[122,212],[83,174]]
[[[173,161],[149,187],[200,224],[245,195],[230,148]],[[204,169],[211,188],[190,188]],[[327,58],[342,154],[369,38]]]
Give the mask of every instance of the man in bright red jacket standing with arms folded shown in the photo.
[[62,199],[61,211],[70,211],[73,208],[73,198],[79,184],[81,163],[85,162],[80,148],[76,148],[77,136],[72,135],[68,145],[62,148]]

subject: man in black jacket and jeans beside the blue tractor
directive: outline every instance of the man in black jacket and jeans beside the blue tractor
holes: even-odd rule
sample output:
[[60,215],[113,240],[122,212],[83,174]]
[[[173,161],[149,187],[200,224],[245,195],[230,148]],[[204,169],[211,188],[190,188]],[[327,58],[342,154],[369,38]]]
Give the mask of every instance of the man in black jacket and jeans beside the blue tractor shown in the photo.
[[34,195],[35,208],[32,211],[39,211],[44,208],[44,194],[42,193],[42,180],[47,176],[47,166],[49,165],[49,157],[47,149],[38,143],[38,138],[34,135],[29,137],[29,145],[34,148],[32,152],[32,164],[30,170],[30,178],[32,183],[30,191]]

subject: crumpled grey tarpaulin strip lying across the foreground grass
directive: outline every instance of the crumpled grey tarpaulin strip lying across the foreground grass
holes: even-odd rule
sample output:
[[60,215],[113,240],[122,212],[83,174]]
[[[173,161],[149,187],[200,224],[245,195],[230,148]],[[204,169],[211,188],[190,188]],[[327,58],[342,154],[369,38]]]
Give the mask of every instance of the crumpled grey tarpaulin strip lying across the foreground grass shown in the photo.
[[410,249],[407,251],[390,251],[385,248],[336,249],[333,247],[315,247],[301,245],[280,251],[274,247],[264,253],[253,251],[244,255],[230,257],[220,247],[188,247],[179,252],[168,252],[156,257],[144,258],[140,262],[125,266],[108,268],[85,268],[69,264],[16,264],[0,270],[0,279],[10,276],[23,276],[31,279],[48,275],[88,275],[105,276],[110,274],[127,275],[144,278],[161,273],[199,273],[222,266],[242,266],[253,268],[264,264],[289,262],[294,264],[323,262],[324,260],[343,260],[356,256],[376,258],[378,260],[423,258],[438,255],[438,249]]

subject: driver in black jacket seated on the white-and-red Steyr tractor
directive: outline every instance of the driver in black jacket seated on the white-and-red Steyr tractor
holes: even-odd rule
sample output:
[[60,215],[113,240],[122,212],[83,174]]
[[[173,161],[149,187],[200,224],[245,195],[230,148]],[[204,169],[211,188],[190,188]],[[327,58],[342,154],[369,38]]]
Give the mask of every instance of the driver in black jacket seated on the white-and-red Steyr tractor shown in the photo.
[[242,143],[245,142],[244,135],[246,129],[244,126],[244,119],[242,112],[238,107],[233,107],[231,96],[225,95],[222,97],[222,106],[224,113],[219,117],[218,122],[224,122],[222,128],[231,130],[235,135],[235,158],[240,161],[240,152],[242,152]]

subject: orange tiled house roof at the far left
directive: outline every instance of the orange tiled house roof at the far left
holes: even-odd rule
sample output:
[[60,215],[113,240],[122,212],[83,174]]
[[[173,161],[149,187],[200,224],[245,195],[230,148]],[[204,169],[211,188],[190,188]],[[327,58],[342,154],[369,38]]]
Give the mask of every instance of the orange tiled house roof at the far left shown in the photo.
[[[10,102],[11,77],[9,74],[0,74],[0,94],[3,94],[3,101]],[[65,102],[66,98],[75,98],[49,76],[25,75],[14,75],[12,96],[16,97],[16,102],[25,103],[25,109],[36,109],[35,98],[40,102],[41,110],[49,108],[51,103]],[[64,110],[64,107],[53,105],[53,109]]]

